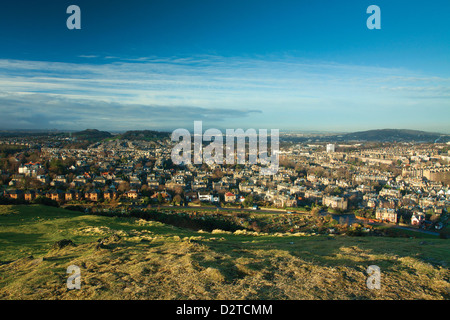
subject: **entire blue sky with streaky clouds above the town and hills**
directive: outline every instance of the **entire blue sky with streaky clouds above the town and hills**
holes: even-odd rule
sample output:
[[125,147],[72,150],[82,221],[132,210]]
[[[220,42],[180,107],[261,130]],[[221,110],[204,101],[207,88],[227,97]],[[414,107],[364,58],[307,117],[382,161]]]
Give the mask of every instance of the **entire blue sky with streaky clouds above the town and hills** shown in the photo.
[[[68,30],[66,8],[81,8]],[[381,30],[366,9],[381,8]],[[450,133],[450,2],[15,1],[0,128]]]

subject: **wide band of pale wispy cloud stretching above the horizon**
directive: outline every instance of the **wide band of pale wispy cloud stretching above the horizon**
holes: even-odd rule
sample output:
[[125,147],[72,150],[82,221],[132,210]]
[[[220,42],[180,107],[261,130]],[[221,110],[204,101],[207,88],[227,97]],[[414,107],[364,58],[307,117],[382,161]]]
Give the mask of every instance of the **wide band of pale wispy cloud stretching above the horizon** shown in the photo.
[[[380,110],[399,116],[405,108],[400,124],[422,119],[445,129],[442,119],[450,120],[450,78],[410,70],[289,57],[105,57],[96,64],[89,61],[97,56],[80,57],[86,62],[0,60],[0,125],[173,128],[204,120],[345,128],[389,124]],[[427,117],[417,102],[424,99]]]

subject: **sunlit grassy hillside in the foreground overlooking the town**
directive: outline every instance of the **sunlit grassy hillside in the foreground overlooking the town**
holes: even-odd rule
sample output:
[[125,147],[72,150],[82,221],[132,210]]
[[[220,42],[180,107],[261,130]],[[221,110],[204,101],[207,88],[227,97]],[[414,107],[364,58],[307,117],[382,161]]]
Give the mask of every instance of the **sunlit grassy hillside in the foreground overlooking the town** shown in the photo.
[[[53,249],[61,239],[77,246]],[[449,248],[443,239],[199,233],[0,206],[0,299],[449,299]],[[81,290],[66,289],[71,264]],[[369,265],[381,268],[380,290],[366,287]]]

